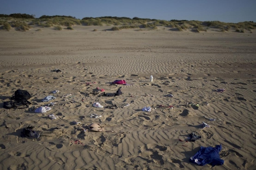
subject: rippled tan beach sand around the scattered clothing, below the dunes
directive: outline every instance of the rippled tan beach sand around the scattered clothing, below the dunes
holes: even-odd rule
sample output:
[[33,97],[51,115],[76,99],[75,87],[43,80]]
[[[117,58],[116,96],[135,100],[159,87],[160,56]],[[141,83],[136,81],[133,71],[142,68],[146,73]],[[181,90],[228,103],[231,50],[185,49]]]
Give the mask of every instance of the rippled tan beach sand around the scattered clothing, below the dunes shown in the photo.
[[[0,170],[256,169],[255,33],[104,31],[111,27],[0,31]],[[118,79],[127,85],[111,83]],[[93,95],[97,87],[123,94]],[[3,108],[17,89],[32,105]],[[42,102],[48,95],[56,99]],[[47,113],[31,109],[50,102]],[[91,131],[91,123],[118,133]],[[20,137],[28,126],[41,136]],[[190,142],[191,132],[201,139]],[[220,144],[223,165],[190,163],[200,146]]]

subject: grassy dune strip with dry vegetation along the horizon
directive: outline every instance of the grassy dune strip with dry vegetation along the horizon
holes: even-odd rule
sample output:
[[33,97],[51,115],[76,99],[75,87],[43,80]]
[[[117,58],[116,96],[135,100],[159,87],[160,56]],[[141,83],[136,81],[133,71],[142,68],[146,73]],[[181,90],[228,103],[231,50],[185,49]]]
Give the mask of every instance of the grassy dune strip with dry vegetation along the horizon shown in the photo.
[[183,31],[190,30],[192,32],[207,31],[209,28],[217,29],[220,32],[234,31],[244,33],[246,30],[252,33],[252,29],[256,29],[256,23],[253,21],[246,21],[240,23],[223,23],[220,21],[188,21],[188,20],[156,20],[144,18],[128,18],[128,17],[85,17],[76,19],[72,16],[46,16],[43,15],[35,18],[28,14],[0,14],[1,29],[10,30],[12,27],[16,30],[27,31],[33,27],[54,27],[60,29],[61,26],[67,26],[67,29],[73,29],[72,26],[114,26],[113,31],[121,29],[135,29],[152,30],[158,29],[158,26],[171,28],[171,30]]

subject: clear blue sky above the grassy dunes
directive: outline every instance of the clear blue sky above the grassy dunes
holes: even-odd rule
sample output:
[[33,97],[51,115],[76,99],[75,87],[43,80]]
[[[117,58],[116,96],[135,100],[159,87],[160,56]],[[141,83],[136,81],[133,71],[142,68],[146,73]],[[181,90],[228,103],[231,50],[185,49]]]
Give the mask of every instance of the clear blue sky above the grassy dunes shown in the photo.
[[256,0],[2,0],[0,14],[256,22]]

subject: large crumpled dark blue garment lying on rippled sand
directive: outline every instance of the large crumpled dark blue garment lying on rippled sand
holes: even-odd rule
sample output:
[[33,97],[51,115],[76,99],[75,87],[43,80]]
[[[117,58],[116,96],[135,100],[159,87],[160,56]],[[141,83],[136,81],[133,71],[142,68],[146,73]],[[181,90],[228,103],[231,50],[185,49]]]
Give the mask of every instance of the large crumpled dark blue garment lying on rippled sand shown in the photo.
[[221,144],[216,145],[216,147],[200,147],[200,150],[193,157],[190,157],[190,162],[201,166],[207,163],[210,163],[212,166],[223,165],[224,160],[220,159],[219,155],[221,148]]

